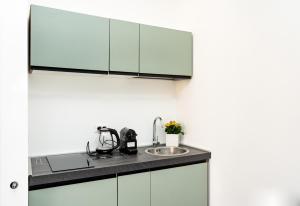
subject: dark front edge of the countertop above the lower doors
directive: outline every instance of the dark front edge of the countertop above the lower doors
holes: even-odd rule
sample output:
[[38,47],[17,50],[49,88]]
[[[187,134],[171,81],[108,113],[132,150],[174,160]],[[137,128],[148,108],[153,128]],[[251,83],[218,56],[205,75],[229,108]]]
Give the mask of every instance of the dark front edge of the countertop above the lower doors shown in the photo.
[[29,191],[113,178],[120,175],[134,174],[139,172],[154,171],[159,169],[167,169],[172,167],[197,164],[201,162],[208,162],[211,158],[211,152],[202,149],[200,150],[204,153],[177,156],[165,159],[154,159],[145,162],[125,163],[102,168],[73,170],[64,173],[53,173],[38,176],[29,175]]

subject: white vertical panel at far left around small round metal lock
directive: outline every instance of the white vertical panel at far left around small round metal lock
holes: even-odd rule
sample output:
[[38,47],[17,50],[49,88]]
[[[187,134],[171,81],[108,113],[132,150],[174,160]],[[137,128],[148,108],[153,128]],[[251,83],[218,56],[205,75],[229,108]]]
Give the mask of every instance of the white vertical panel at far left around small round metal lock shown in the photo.
[[[29,4],[0,1],[0,205],[28,197],[27,25]],[[16,181],[19,186],[10,188]]]

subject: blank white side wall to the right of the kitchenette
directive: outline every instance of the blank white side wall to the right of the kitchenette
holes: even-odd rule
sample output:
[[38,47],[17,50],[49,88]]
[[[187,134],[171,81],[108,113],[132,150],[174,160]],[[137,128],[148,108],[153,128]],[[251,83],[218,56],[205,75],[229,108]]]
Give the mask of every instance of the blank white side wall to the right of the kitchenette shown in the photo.
[[189,1],[185,143],[212,151],[211,205],[300,205],[299,1]]

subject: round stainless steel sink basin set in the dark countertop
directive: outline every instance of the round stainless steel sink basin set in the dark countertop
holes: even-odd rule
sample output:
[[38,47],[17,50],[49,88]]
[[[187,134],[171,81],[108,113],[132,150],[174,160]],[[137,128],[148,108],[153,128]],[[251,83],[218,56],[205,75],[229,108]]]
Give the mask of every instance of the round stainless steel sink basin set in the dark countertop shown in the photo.
[[190,151],[182,147],[155,147],[145,150],[147,154],[157,156],[178,156],[189,153]]

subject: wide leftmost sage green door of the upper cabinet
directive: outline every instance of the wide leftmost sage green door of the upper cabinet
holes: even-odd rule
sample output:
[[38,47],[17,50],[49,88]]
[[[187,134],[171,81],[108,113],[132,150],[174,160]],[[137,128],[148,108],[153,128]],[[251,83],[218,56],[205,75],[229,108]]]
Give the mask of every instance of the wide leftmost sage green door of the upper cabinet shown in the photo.
[[109,19],[31,6],[32,66],[108,71]]

